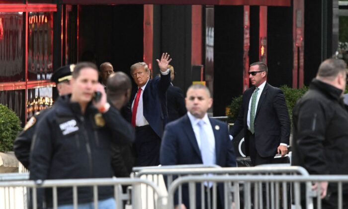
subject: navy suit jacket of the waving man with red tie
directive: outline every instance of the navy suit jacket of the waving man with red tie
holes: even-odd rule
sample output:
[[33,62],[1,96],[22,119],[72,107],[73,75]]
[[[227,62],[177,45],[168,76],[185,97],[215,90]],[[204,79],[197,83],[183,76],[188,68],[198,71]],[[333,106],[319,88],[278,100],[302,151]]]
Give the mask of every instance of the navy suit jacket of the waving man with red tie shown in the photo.
[[[143,114],[149,122],[151,128],[162,138],[165,126],[165,114],[163,114],[163,104],[165,104],[166,92],[171,85],[171,74],[156,76],[150,79],[143,92]],[[135,98],[138,88],[134,88],[131,97],[131,104]]]

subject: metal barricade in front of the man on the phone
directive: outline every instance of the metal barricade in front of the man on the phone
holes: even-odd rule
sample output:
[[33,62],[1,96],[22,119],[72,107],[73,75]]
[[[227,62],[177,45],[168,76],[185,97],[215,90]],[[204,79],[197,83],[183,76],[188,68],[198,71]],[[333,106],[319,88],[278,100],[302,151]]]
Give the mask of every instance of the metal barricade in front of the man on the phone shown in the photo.
[[[151,192],[156,194],[156,207],[158,209],[166,209],[167,205],[167,195],[162,193],[158,187],[151,181],[143,179],[134,179],[134,178],[113,178],[113,179],[67,179],[67,180],[45,180],[45,181],[1,181],[0,188],[30,188],[32,189],[32,208],[37,209],[37,192],[41,188],[52,188],[52,200],[53,200],[53,209],[58,207],[58,195],[57,188],[62,187],[71,187],[73,190],[73,205],[74,209],[78,208],[78,188],[80,187],[91,187],[93,190],[93,205],[94,208],[98,208],[98,187],[99,186],[114,186],[114,199],[116,201],[116,208],[123,209],[122,203],[122,185],[132,185],[137,186],[145,184],[147,187],[151,188]],[[137,197],[132,194],[132,199]],[[14,203],[15,204],[15,203]],[[2,208],[2,207],[1,207]],[[15,205],[11,207],[10,205],[5,205],[3,208],[18,208]],[[136,209],[133,207],[133,209]]]

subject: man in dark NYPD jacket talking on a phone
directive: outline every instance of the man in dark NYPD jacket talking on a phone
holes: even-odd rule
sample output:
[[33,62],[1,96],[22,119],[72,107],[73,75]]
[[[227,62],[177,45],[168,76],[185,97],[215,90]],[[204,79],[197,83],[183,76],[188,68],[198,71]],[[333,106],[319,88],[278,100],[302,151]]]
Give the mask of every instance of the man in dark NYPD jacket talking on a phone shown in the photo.
[[[93,63],[75,66],[72,95],[62,97],[54,109],[39,121],[30,153],[30,179],[111,178],[112,140],[130,143],[119,136],[115,111],[106,101]],[[92,101],[100,92],[99,101]],[[47,207],[52,207],[52,190],[45,191]],[[58,205],[72,207],[72,188],[58,188]],[[99,208],[115,208],[113,187],[98,188]],[[78,189],[79,206],[92,207],[93,190]]]

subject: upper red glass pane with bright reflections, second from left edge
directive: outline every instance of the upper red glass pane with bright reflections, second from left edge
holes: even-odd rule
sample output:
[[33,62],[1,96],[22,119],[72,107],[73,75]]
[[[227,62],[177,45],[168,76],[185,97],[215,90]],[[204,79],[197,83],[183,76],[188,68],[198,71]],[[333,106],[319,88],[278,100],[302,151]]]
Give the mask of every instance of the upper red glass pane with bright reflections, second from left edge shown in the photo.
[[28,80],[49,80],[53,72],[53,13],[29,12]]

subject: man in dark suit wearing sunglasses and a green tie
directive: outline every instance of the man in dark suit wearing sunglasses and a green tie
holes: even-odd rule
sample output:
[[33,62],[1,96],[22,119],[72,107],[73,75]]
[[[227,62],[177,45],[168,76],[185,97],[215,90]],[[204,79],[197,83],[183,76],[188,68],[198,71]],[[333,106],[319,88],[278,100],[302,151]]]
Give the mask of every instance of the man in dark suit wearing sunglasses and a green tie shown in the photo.
[[244,128],[245,151],[256,165],[270,164],[276,153],[287,153],[290,119],[283,92],[269,85],[263,62],[250,65],[249,78],[254,87],[243,94],[242,107],[230,135]]

